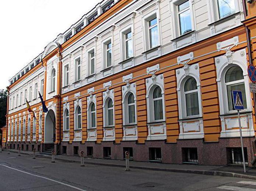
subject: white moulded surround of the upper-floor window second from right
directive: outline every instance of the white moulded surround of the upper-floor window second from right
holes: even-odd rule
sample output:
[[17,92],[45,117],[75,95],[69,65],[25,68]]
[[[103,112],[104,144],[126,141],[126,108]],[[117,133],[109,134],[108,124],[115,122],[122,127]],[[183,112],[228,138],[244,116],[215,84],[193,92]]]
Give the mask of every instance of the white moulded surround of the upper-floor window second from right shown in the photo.
[[[187,0],[170,0],[171,15],[173,15],[171,17],[173,39],[176,39],[179,36],[187,35],[187,33],[183,35],[180,34],[180,23],[179,23],[179,15],[178,15],[178,6],[184,3],[185,1]],[[189,0],[189,9],[190,9],[190,18],[191,18],[191,26],[192,26],[191,31],[194,31],[196,30],[196,26],[195,26],[196,21],[194,16],[194,2],[191,0]]]

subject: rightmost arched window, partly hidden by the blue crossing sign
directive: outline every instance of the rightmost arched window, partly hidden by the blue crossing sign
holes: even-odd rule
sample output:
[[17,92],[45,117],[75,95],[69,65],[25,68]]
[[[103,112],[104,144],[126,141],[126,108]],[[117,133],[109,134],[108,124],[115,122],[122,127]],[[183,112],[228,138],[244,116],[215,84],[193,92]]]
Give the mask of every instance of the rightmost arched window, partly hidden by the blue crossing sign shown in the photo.
[[228,110],[232,111],[232,90],[242,91],[243,97],[243,107],[247,109],[246,104],[246,94],[245,94],[245,81],[243,78],[243,71],[239,66],[232,66],[229,68],[225,74],[225,86],[227,89],[227,97],[228,97]]

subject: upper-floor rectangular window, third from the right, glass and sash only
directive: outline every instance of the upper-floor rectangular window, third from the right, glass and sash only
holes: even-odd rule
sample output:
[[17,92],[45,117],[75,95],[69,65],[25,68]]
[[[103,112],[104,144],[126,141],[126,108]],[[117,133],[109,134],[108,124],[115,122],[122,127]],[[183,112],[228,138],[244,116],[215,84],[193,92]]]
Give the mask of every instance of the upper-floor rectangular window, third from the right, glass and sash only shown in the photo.
[[158,46],[157,17],[148,21],[148,30],[149,30],[150,48],[154,48],[154,47]]

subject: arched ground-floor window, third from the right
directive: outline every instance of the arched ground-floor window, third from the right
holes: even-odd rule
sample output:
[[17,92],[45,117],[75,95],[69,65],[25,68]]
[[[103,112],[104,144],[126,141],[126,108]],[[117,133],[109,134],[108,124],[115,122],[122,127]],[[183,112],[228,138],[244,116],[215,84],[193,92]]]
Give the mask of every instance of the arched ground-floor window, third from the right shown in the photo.
[[154,119],[163,120],[163,98],[162,90],[159,86],[156,86],[153,91],[153,102],[154,102]]

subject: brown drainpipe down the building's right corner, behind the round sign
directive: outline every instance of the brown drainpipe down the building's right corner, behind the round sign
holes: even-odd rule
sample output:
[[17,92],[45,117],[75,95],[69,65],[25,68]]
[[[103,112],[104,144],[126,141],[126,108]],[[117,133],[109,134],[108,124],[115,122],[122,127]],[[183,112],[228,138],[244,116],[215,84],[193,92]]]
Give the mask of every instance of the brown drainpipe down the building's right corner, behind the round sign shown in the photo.
[[[243,3],[243,14],[245,17],[248,16],[247,10],[246,10],[246,4],[245,0],[242,1]],[[249,64],[253,65],[252,62],[252,51],[251,51],[251,41],[250,41],[250,29],[248,26],[245,26],[245,32],[246,32],[246,42],[247,42],[247,50],[248,50],[248,58],[249,58]],[[254,112],[255,112],[255,118],[256,118],[256,101],[255,101],[255,93],[253,93],[253,105],[254,105]],[[254,165],[256,162],[256,137],[252,141],[252,147],[253,147],[253,159],[251,161],[251,164]]]

